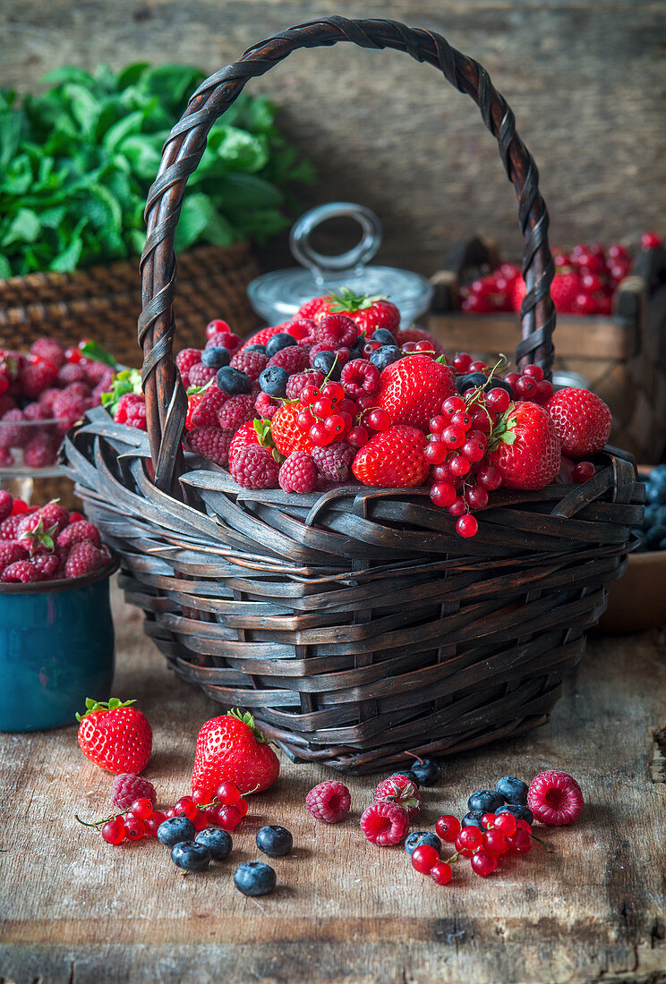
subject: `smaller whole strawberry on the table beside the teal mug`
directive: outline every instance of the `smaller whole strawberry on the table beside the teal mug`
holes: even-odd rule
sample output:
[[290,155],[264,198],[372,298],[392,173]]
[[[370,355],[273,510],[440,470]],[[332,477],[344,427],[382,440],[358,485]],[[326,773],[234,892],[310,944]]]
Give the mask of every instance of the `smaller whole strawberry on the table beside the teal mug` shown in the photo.
[[109,772],[141,772],[153,748],[148,718],[134,701],[124,704],[112,697],[108,703],[88,698],[86,710],[77,714],[81,751],[100,769]]

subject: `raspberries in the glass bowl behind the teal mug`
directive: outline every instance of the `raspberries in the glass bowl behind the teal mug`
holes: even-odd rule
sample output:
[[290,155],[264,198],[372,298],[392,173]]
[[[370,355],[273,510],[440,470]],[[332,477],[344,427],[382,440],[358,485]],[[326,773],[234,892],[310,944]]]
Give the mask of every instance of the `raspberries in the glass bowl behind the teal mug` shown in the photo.
[[0,467],[14,465],[19,453],[30,468],[55,464],[63,434],[99,405],[113,369],[81,346],[38,338],[28,354],[0,349]]

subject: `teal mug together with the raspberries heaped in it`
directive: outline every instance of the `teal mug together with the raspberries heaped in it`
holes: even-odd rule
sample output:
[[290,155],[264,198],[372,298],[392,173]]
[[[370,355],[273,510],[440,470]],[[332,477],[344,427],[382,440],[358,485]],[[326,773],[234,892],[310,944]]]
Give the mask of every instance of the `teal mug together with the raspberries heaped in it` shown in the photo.
[[0,491],[0,731],[71,724],[91,694],[108,697],[117,567],[81,514]]

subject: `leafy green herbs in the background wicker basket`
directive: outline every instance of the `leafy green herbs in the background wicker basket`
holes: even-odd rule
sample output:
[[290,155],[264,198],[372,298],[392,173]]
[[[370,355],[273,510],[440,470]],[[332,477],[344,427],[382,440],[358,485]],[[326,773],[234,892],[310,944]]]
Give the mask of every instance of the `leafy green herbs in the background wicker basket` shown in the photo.
[[[0,89],[0,277],[67,272],[137,256],[143,210],[170,128],[204,74],[144,62],[112,72],[63,66],[26,95]],[[242,93],[211,128],[191,176],[176,252],[257,242],[291,221],[294,187],[312,183],[265,96]]]

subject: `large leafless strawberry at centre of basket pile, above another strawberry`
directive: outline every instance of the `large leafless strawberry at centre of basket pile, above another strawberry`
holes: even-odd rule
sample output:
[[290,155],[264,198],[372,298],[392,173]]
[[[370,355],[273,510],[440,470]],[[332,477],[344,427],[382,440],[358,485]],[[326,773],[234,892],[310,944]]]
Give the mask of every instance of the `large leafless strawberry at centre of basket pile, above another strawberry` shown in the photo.
[[383,370],[377,406],[386,410],[394,424],[428,431],[443,400],[455,394],[455,377],[448,366],[430,355],[408,355]]

